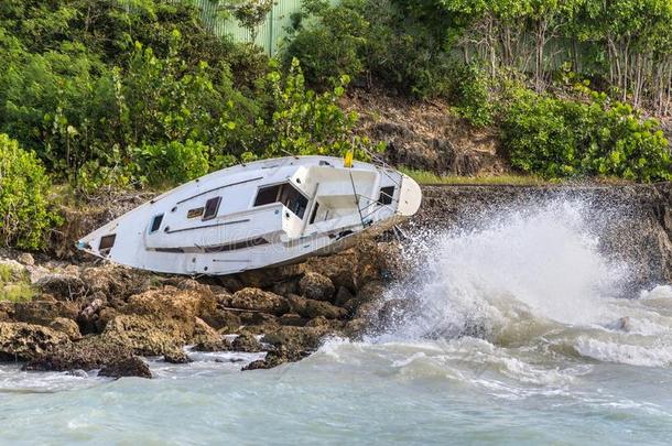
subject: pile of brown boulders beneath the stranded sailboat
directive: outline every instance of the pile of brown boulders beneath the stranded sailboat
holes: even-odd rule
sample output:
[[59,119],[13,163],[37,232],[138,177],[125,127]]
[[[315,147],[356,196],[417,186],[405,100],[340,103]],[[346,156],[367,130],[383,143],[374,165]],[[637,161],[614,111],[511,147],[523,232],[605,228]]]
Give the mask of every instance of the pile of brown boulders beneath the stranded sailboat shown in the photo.
[[24,370],[144,378],[151,372],[140,357],[188,362],[186,346],[267,352],[247,369],[295,361],[326,335],[361,331],[395,249],[365,241],[335,255],[225,278],[35,262],[26,253],[3,258],[3,286],[28,286],[34,295],[0,301],[0,361],[20,361]]

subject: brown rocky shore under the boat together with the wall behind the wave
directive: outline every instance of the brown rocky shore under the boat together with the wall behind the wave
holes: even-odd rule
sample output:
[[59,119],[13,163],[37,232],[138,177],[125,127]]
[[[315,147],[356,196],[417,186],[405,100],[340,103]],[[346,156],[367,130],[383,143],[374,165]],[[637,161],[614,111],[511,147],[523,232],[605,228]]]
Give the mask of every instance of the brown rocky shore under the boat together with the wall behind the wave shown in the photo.
[[[394,303],[383,304],[384,290],[409,271],[404,241],[386,238],[224,278],[153,274],[64,248],[141,198],[117,200],[122,206],[111,211],[77,211],[51,255],[0,252],[0,361],[34,371],[151,378],[143,357],[185,363],[188,351],[261,351],[265,357],[246,369],[271,368],[306,357],[326,336],[357,337],[384,320]],[[477,229],[511,209],[562,200],[585,203],[601,249],[638,265],[633,286],[670,282],[670,184],[425,186],[421,211],[402,232],[413,243],[432,230]]]

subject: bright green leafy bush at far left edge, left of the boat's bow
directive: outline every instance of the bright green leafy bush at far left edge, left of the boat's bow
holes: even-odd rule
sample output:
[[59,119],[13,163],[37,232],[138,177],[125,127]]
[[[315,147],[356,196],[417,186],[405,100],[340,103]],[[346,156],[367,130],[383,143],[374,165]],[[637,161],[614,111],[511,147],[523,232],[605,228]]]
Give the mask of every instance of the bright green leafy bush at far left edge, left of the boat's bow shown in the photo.
[[44,247],[48,229],[59,221],[50,210],[50,188],[34,153],[0,133],[0,242],[20,249]]

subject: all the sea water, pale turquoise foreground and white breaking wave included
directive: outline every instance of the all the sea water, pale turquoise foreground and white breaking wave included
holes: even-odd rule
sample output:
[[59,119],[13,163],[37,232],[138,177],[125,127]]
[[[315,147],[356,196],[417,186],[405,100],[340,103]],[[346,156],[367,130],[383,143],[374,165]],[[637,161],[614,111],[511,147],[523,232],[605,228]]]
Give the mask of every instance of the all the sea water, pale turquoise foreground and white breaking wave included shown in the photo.
[[[360,341],[149,358],[153,380],[0,366],[2,444],[670,444],[672,287],[627,286],[579,202],[425,233]],[[262,353],[261,353],[262,355]]]

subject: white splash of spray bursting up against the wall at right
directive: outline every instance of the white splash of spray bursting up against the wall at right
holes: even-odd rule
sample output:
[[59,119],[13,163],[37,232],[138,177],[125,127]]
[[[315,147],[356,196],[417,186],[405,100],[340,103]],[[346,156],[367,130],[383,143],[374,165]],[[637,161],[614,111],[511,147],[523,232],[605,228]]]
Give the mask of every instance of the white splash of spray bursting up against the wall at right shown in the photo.
[[553,200],[489,219],[416,239],[412,276],[387,294],[392,317],[367,340],[470,336],[604,361],[672,362],[672,289],[624,297],[629,265],[600,251],[595,228],[604,226],[589,206]]

